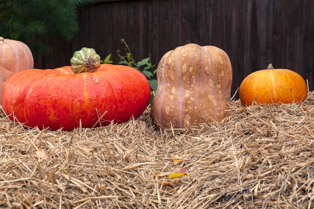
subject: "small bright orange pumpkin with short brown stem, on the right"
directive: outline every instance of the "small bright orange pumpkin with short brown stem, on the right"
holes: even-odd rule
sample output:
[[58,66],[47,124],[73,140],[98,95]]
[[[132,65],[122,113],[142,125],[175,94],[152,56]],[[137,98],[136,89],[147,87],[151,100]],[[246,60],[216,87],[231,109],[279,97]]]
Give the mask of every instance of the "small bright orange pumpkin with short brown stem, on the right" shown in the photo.
[[300,103],[307,97],[304,79],[288,69],[267,69],[248,75],[239,88],[239,98],[245,106],[257,103]]

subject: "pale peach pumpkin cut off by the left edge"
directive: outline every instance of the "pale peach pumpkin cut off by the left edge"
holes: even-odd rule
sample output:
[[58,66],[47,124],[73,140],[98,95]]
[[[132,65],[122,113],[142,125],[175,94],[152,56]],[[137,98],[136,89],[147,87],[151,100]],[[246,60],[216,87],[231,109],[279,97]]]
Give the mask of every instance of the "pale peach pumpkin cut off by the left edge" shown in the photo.
[[0,104],[5,81],[14,73],[34,68],[30,48],[23,42],[0,37]]

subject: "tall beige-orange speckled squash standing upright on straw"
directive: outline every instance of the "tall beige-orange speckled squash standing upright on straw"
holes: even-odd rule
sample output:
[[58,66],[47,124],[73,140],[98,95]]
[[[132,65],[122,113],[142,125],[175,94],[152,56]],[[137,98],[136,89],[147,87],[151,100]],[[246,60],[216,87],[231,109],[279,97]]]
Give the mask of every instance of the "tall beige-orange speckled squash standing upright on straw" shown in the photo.
[[157,82],[151,115],[158,127],[185,128],[228,114],[232,67],[222,49],[187,44],[167,52]]

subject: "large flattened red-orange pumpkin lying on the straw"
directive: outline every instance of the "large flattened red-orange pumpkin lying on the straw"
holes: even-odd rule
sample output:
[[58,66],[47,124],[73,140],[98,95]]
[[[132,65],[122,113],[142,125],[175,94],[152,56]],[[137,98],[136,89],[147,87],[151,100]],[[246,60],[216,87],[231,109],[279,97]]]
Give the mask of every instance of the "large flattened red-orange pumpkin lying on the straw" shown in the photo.
[[121,123],[138,117],[150,99],[145,76],[127,66],[100,65],[92,61],[96,55],[85,55],[91,64],[88,72],[75,74],[71,66],[65,66],[11,76],[2,95],[10,119],[15,117],[30,127],[72,130],[80,124],[83,128],[104,126],[112,120]]

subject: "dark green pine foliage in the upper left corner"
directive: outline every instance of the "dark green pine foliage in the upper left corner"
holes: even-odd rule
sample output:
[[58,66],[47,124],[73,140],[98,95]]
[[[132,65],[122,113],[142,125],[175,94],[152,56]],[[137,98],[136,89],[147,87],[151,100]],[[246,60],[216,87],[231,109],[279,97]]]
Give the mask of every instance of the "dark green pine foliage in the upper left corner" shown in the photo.
[[[35,35],[70,40],[78,30],[77,8],[92,0],[0,0],[0,35],[31,48]],[[39,48],[46,49],[39,43]],[[34,47],[34,46],[33,46]]]

